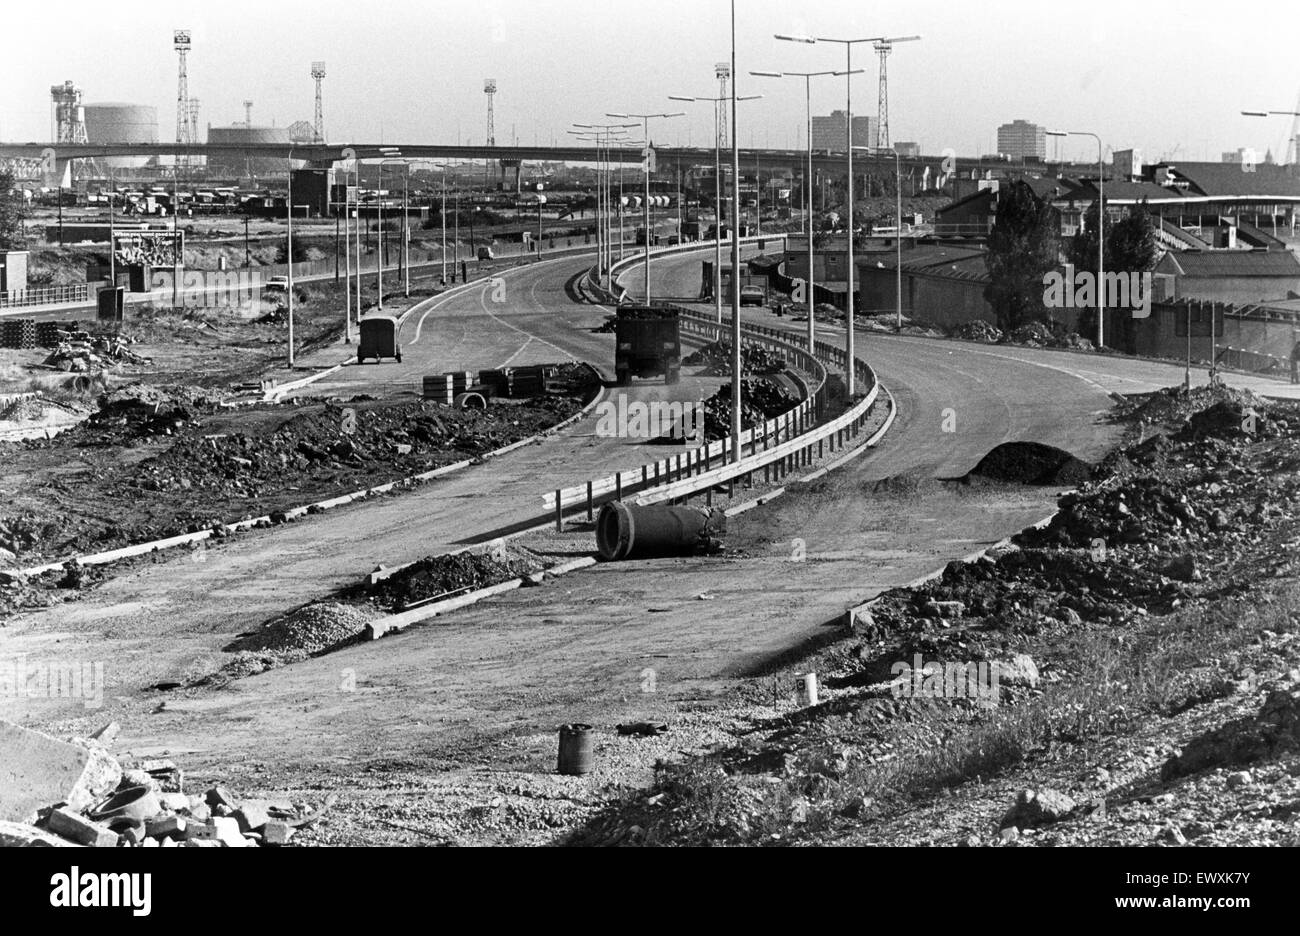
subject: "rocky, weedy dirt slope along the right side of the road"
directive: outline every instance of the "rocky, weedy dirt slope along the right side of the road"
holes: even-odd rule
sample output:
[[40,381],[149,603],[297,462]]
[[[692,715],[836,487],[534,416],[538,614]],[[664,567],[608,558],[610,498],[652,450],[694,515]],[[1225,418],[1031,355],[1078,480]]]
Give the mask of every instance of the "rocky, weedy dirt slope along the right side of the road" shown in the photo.
[[[576,842],[1297,844],[1300,408],[1139,398],[1049,525],[797,664]],[[793,667],[779,679],[793,684]]]

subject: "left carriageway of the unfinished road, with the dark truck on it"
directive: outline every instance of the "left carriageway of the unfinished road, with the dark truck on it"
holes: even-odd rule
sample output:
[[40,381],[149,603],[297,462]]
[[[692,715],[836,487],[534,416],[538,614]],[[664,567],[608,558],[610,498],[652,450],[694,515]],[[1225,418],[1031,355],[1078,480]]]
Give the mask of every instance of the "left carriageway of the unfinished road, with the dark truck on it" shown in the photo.
[[[448,298],[421,303],[403,332],[403,364],[350,365],[304,393],[389,390],[419,394],[420,378],[451,369],[585,359],[612,361],[614,335],[595,334],[607,312],[576,304],[567,285],[590,257],[514,268]],[[419,329],[415,341],[413,329]],[[338,348],[332,354],[337,359]],[[684,376],[675,386],[633,382],[632,400],[694,400],[716,380]],[[608,394],[608,391],[606,391]],[[82,601],[12,621],[4,640],[25,633],[25,650],[77,634],[112,647],[130,685],[173,679],[196,654],[285,610],[355,584],[380,564],[398,566],[495,534],[523,517],[545,520],[542,498],[555,488],[663,458],[659,446],[603,438],[586,417],[508,455],[451,473],[399,497],[381,497],[299,523],[242,534],[187,555],[160,554],[157,563],[112,578]],[[304,494],[304,499],[309,493]],[[202,559],[202,562],[195,559]],[[155,637],[166,634],[164,645]],[[101,638],[107,638],[103,641]],[[44,644],[53,646],[53,644]],[[61,653],[68,653],[66,647]],[[127,664],[126,660],[134,658]],[[0,701],[0,712],[4,711]]]

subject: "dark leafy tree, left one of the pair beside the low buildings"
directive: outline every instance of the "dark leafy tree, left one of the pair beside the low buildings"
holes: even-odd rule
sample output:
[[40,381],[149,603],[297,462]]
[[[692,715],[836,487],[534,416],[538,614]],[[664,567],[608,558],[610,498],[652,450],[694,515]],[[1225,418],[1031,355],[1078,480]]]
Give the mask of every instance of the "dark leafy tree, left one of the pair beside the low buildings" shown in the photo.
[[1058,231],[1052,205],[1041,202],[1030,186],[1013,182],[1005,190],[984,256],[991,278],[984,299],[1004,332],[1046,320],[1043,277],[1060,261]]

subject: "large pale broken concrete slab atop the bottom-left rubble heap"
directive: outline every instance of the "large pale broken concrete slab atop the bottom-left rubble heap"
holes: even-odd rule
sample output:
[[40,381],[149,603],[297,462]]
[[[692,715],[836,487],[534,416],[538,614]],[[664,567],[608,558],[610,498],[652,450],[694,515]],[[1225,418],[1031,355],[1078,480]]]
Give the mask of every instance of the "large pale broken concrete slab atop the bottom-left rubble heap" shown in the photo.
[[117,788],[122,767],[108,751],[60,741],[0,720],[0,819],[35,822],[68,803],[78,812]]

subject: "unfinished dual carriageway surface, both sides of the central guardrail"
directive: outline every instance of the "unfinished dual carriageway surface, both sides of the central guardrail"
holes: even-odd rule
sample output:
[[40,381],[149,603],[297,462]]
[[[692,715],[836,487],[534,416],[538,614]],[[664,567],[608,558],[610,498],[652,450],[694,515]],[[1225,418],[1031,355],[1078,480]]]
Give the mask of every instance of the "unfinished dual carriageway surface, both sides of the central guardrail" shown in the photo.
[[[659,294],[689,295],[698,285],[697,264],[698,256],[659,261]],[[564,280],[580,265],[514,274],[516,302],[506,304],[508,311],[477,289],[446,303],[425,320],[413,360],[468,367],[462,358],[471,343],[489,350],[493,363],[512,355],[554,360],[556,350],[608,354],[601,343],[610,335],[582,332],[603,313],[573,308],[563,294]],[[766,311],[749,315],[800,330]],[[822,334],[842,337],[833,329]],[[792,493],[736,519],[734,549],[723,558],[599,566],[437,625],[239,680],[225,692],[186,693],[152,716],[153,702],[138,696],[105,712],[77,715],[103,722],[120,711],[133,745],[195,748],[187,767],[214,776],[238,770],[240,759],[256,760],[273,770],[261,783],[280,789],[299,774],[311,783],[334,764],[352,780],[365,763],[424,766],[415,785],[356,794],[363,807],[477,802],[480,796],[486,802],[503,783],[549,783],[554,727],[563,722],[672,720],[668,748],[655,753],[667,755],[699,741],[690,732],[698,722],[690,711],[725,697],[732,677],[764,672],[792,651],[797,658],[801,646],[831,633],[823,625],[849,603],[1032,523],[1056,499],[1052,489],[978,486],[923,486],[926,497],[916,497],[906,485],[892,493],[876,480],[959,474],[1006,439],[1096,458],[1118,436],[1102,419],[1109,393],[1182,377],[1178,368],[1145,361],[874,333],[862,333],[858,348],[898,399],[894,429],[878,450],[832,474],[820,493]],[[410,380],[396,368],[347,368],[337,387],[346,390],[364,372]],[[954,419],[946,426],[945,410]],[[564,472],[564,459],[580,456],[585,469],[595,459],[632,455],[592,439],[588,426],[428,490],[237,538],[209,550],[202,564],[178,558],[124,576],[77,604],[17,621],[4,638],[21,634],[30,659],[110,658],[110,692],[176,679],[187,659],[203,658],[199,671],[208,671],[233,633],[352,581],[380,560],[445,546],[465,524],[486,521],[486,512],[528,502],[541,477]],[[5,702],[4,710],[16,706],[22,708]],[[53,707],[29,702],[22,710],[39,719]],[[630,742],[602,742],[608,744]],[[448,767],[465,770],[429,781]],[[593,777],[598,784],[625,780],[601,771]],[[259,783],[256,776],[248,781]],[[374,829],[368,835],[373,838]]]

